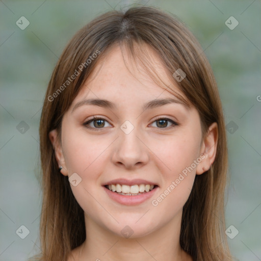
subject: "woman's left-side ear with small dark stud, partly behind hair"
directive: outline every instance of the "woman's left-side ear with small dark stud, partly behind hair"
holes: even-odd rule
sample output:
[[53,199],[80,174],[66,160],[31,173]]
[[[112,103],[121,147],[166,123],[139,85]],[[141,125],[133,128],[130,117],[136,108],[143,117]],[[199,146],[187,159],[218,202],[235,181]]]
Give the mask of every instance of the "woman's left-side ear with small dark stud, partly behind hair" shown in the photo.
[[61,142],[58,138],[58,133],[56,129],[53,129],[53,131],[49,132],[49,139],[51,141],[51,144],[53,144],[54,150],[55,150],[55,158],[56,161],[59,165],[59,167],[63,167],[60,172],[64,176],[68,176],[68,171],[66,168],[65,160],[64,160],[64,155],[63,155],[63,150],[61,146]]

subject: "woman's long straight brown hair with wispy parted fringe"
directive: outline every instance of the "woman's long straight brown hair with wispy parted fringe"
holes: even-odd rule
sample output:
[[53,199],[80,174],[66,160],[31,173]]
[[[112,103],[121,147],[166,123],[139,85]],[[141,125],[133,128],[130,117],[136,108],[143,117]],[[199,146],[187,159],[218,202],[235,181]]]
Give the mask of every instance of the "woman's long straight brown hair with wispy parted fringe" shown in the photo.
[[[232,260],[224,233],[227,145],[217,84],[192,33],[177,18],[151,7],[135,7],[125,13],[112,11],[97,17],[73,36],[54,69],[39,129],[43,189],[39,260],[66,261],[71,250],[85,241],[84,212],[71,192],[68,177],[59,172],[48,134],[53,129],[61,133],[64,113],[95,64],[114,44],[127,48],[145,67],[148,65],[143,52],[134,48],[134,44],[149,46],[158,54],[170,77],[178,68],[182,69],[186,77],[178,86],[198,110],[203,135],[206,135],[208,126],[217,122],[216,159],[210,170],[196,175],[184,205],[180,246],[194,261]],[[87,59],[98,52],[97,58],[87,64]],[[79,72],[81,64],[85,66]],[[76,71],[79,73],[75,79],[64,85]],[[174,77],[172,81],[175,82]],[[61,92],[58,92],[59,88]]]

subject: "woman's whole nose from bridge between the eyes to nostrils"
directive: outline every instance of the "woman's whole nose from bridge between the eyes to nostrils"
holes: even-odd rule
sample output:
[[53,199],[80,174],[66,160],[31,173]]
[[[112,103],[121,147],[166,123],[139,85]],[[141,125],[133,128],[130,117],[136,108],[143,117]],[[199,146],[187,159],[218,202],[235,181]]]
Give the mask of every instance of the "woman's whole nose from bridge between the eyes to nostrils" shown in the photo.
[[119,138],[113,152],[113,162],[132,168],[135,165],[144,165],[148,162],[147,147],[137,137],[139,129],[131,122],[125,121],[119,129]]

